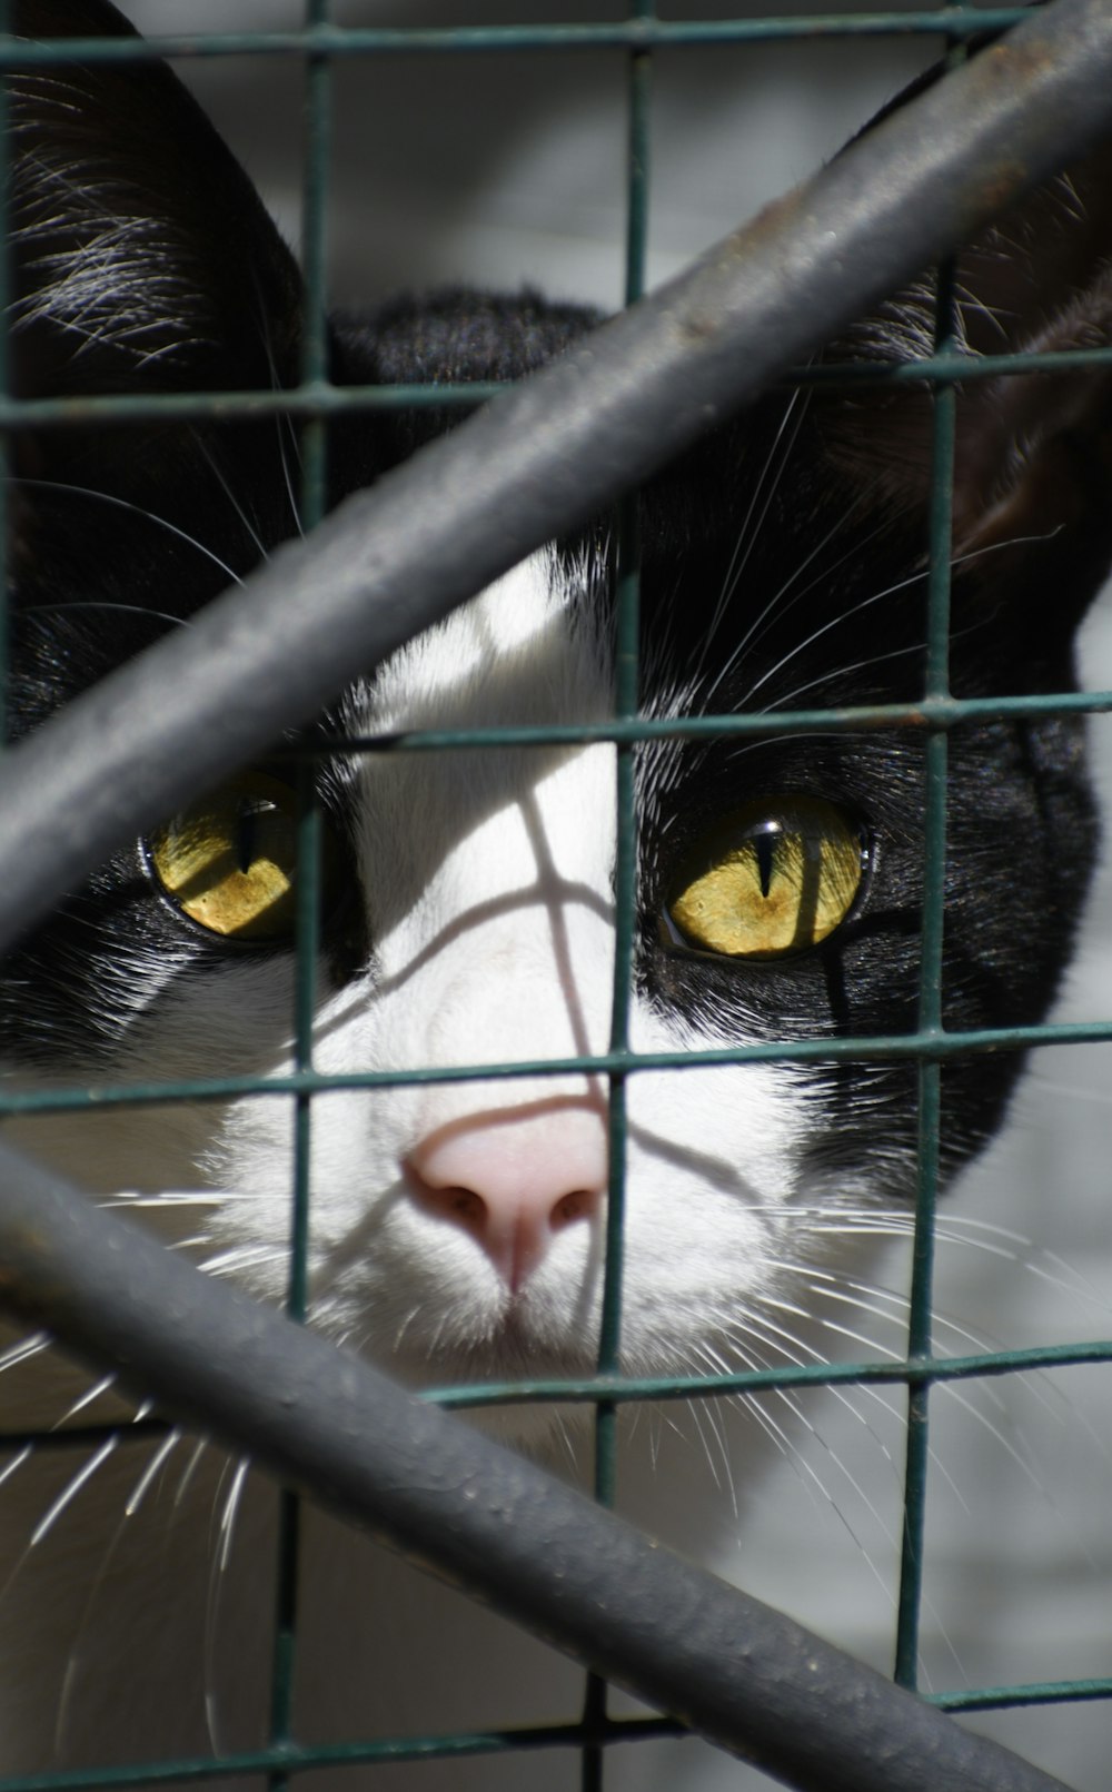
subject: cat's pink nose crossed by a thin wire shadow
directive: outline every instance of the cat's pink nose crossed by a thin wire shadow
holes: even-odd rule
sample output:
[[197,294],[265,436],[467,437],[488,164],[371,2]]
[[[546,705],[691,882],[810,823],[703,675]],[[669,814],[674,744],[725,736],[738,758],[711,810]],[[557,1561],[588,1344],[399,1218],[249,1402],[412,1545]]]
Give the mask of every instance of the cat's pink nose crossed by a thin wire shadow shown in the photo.
[[417,1199],[471,1233],[518,1294],[553,1236],[602,1208],[605,1116],[568,1100],[464,1116],[421,1140],[406,1168]]

